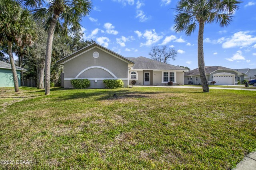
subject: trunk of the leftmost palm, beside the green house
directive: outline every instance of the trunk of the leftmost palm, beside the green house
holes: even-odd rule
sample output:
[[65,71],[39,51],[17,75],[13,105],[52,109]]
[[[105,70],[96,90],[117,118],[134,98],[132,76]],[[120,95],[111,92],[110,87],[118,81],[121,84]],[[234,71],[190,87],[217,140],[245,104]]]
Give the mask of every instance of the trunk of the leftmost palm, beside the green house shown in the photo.
[[8,41],[8,54],[10,57],[10,63],[11,63],[11,67],[12,67],[14,89],[15,89],[15,92],[19,92],[19,82],[18,82],[18,76],[17,76],[16,67],[15,67],[14,59],[13,59],[13,55],[12,55],[12,42],[11,41]]

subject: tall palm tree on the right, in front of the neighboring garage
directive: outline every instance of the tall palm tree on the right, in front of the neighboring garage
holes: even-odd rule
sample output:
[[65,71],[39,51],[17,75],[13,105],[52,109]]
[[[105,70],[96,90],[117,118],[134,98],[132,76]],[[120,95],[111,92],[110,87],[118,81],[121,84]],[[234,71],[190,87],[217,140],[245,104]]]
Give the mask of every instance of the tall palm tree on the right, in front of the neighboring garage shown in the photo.
[[239,0],[180,0],[175,8],[174,29],[191,35],[199,24],[198,31],[198,68],[204,92],[209,92],[204,66],[204,25],[219,23],[221,27],[232,21],[232,14],[238,9]]

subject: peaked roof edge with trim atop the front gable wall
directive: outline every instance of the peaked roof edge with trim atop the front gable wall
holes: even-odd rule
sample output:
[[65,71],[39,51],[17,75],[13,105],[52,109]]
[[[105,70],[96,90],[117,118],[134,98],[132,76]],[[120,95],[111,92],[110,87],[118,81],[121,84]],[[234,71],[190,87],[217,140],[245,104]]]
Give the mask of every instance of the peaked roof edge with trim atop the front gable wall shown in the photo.
[[117,57],[121,60],[124,60],[128,63],[134,63],[133,61],[127,59],[126,57],[123,57],[122,55],[118,54],[118,53],[115,53],[114,51],[111,51],[110,49],[107,49],[106,47],[103,47],[102,45],[99,45],[97,43],[92,43],[78,51],[76,51],[75,53],[72,53],[66,57],[64,57],[63,59],[60,59],[59,61],[57,61],[56,63],[57,64],[64,64],[65,62],[67,61],[70,61],[72,59],[74,59],[75,57],[79,56],[79,55],[82,55],[83,53],[86,53],[87,51],[90,51],[91,49],[95,48],[95,47],[98,47],[99,49],[105,51],[106,53],[110,53],[112,54],[114,57]]

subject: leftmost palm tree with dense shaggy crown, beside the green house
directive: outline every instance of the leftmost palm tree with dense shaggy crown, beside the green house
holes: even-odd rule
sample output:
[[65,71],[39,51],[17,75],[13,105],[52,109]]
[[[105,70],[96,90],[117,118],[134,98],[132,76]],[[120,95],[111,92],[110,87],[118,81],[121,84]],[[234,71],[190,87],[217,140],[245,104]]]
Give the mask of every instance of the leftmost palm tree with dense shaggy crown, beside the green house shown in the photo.
[[31,45],[36,38],[30,12],[19,0],[0,0],[0,42],[7,43],[15,92],[19,92],[18,76],[12,55],[12,46]]

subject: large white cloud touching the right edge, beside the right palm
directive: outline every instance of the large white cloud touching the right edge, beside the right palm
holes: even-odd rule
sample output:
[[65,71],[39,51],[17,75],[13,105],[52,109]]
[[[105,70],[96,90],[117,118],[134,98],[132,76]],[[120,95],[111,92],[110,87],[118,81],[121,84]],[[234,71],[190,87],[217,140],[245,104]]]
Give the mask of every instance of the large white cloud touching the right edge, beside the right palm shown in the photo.
[[239,31],[234,33],[231,38],[226,39],[226,42],[222,44],[224,49],[232,48],[232,47],[248,47],[252,45],[252,43],[256,42],[256,37],[248,34],[249,31]]

